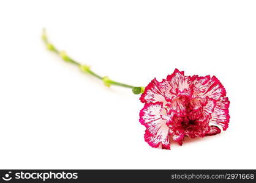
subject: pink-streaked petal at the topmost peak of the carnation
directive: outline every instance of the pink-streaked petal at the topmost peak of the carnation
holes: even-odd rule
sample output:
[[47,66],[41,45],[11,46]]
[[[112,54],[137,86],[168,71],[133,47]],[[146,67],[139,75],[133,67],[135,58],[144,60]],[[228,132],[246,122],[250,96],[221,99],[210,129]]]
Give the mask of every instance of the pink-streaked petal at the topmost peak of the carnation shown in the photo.
[[191,96],[192,88],[191,88],[191,77],[184,76],[184,71],[179,71],[175,69],[173,74],[167,76],[168,84],[170,85],[170,94],[166,93],[167,98],[171,98],[171,96]]

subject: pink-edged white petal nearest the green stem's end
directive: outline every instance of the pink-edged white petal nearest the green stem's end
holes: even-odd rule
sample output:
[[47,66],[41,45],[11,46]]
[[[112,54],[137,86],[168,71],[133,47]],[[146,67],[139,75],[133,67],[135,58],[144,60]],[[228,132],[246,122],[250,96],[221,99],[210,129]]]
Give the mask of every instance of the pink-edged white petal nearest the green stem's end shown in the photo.
[[165,89],[165,85],[155,78],[146,86],[144,93],[140,96],[140,101],[143,103],[166,102],[164,97]]

